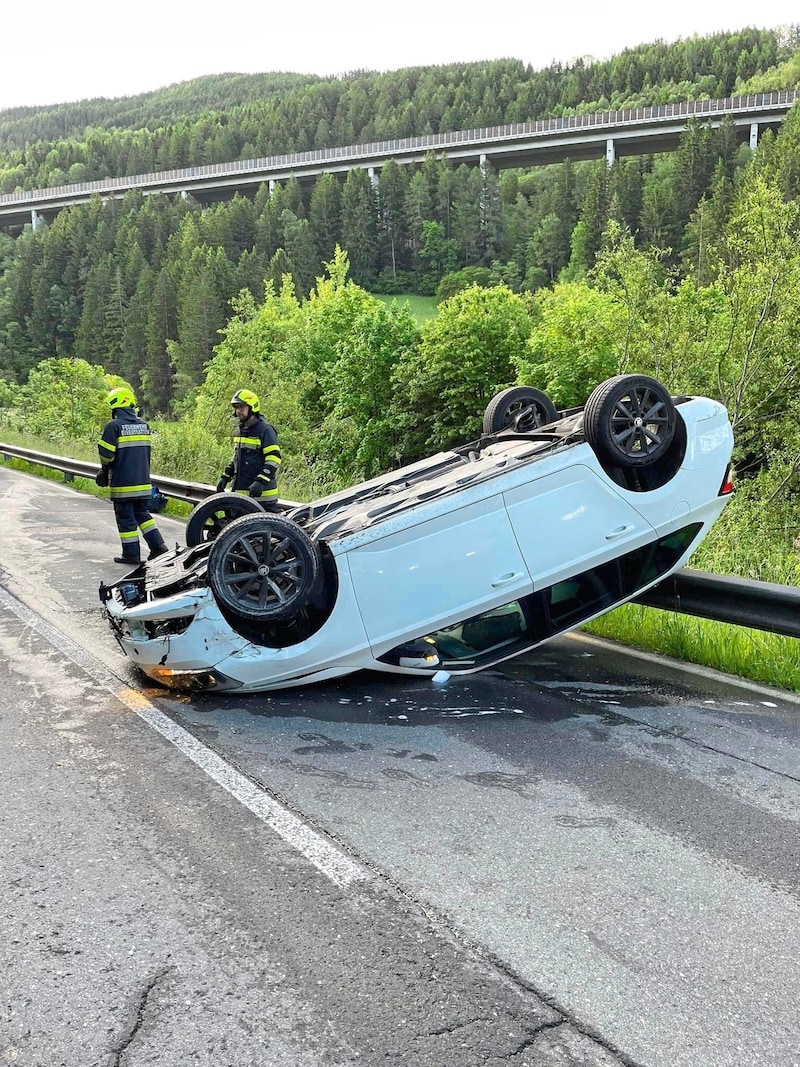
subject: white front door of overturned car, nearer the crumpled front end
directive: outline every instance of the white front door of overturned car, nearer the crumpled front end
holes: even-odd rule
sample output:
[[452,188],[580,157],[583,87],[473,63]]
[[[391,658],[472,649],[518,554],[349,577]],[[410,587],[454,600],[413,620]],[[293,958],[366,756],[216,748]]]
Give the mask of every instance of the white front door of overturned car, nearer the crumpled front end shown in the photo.
[[377,656],[532,590],[500,494],[375,537],[348,564]]

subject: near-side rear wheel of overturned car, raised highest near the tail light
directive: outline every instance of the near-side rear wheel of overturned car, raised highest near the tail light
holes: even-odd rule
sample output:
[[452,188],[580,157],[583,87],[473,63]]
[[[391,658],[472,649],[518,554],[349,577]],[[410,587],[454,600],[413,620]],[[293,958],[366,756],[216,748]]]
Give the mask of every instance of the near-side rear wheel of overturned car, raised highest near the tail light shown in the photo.
[[669,392],[646,375],[602,382],[583,409],[587,441],[601,459],[644,467],[663,457],[675,436],[677,413]]

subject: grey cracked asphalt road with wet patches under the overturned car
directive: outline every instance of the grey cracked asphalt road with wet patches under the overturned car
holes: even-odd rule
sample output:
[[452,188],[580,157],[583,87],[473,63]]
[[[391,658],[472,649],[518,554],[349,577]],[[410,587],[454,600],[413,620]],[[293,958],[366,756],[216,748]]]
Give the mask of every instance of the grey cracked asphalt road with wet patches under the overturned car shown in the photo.
[[109,506],[0,508],[0,1062],[800,1065],[796,700],[577,637],[178,700]]

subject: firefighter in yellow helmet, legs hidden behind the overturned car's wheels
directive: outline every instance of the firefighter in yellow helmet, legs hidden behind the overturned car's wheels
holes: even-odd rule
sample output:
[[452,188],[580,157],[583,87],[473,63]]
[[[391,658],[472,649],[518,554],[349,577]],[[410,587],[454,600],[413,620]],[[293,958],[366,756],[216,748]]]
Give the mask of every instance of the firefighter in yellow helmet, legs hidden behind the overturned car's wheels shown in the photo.
[[234,458],[217,482],[217,492],[224,492],[233,481],[235,493],[260,497],[265,511],[279,511],[281,449],[275,428],[263,417],[260,401],[250,389],[237,389],[230,405],[239,425],[234,434]]

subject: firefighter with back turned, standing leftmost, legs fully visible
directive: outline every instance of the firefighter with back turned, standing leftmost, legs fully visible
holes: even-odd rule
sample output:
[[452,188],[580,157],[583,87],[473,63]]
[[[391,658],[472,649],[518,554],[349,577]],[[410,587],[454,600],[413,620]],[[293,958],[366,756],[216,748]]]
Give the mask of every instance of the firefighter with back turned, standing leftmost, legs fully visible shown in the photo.
[[102,428],[97,450],[100,472],[98,485],[110,488],[114,519],[119,530],[122,555],[115,563],[134,566],[141,562],[139,534],[150,550],[148,559],[169,552],[161,531],[150,515],[150,428],[137,414],[135,397],[128,386],[112,389],[106,398],[111,418]]

